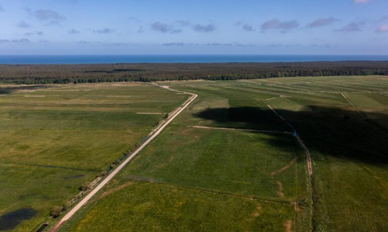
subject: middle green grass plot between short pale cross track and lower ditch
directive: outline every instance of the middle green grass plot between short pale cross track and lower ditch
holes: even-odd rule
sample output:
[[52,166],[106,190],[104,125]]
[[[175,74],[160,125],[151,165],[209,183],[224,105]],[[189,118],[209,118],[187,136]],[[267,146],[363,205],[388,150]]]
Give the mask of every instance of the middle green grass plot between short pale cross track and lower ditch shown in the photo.
[[[299,165],[271,175],[295,158],[299,159]],[[304,161],[303,150],[291,135],[170,127],[120,176],[268,200],[296,201],[297,168],[302,168],[303,175]],[[282,197],[276,181],[283,185]]]

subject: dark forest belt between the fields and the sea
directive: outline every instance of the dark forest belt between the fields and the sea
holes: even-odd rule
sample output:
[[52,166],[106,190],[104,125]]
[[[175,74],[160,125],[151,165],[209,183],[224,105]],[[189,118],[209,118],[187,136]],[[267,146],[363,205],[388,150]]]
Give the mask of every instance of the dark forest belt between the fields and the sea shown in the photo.
[[69,84],[96,82],[152,82],[167,80],[237,80],[269,77],[388,75],[388,61],[0,65],[0,82]]

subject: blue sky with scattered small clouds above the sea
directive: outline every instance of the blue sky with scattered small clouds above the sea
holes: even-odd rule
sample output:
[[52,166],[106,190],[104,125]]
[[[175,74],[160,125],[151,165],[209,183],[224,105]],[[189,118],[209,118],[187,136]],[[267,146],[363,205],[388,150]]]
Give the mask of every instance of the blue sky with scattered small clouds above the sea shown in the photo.
[[0,54],[388,54],[388,0],[0,0]]

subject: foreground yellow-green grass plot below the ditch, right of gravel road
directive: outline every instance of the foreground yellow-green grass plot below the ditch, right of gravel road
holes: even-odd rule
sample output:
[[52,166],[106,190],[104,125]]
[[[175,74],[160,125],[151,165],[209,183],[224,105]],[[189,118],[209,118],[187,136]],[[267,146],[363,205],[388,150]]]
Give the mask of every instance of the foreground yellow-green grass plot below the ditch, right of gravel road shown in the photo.
[[61,231],[284,231],[294,219],[291,205],[115,181]]

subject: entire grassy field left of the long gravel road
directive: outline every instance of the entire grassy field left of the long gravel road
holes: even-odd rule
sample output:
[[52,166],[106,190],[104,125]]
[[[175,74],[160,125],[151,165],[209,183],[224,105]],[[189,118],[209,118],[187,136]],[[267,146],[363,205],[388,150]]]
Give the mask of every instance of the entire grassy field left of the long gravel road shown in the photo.
[[0,230],[19,231],[36,230],[187,99],[146,83],[3,85],[0,94]]

